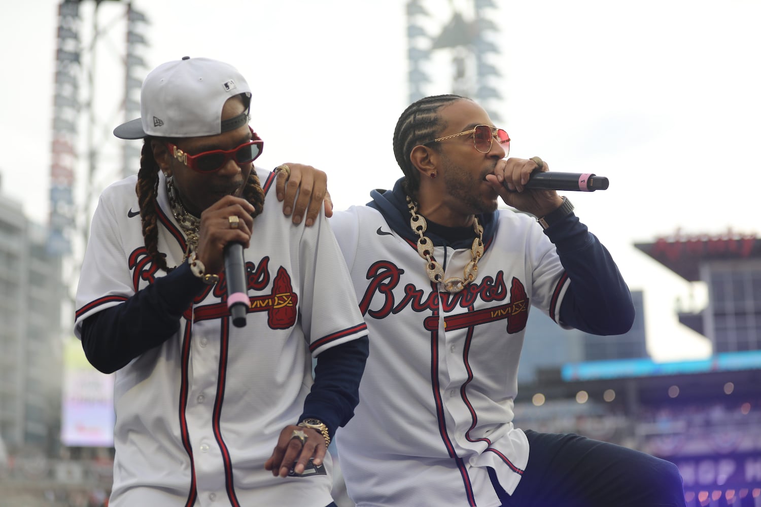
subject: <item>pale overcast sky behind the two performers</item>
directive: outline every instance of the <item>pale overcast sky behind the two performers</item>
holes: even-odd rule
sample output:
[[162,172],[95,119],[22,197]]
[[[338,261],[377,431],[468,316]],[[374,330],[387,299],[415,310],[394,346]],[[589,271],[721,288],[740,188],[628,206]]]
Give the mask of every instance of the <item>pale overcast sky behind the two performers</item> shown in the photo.
[[[48,214],[55,0],[8,2],[0,21],[2,193],[34,220]],[[82,42],[94,2],[82,2]],[[471,2],[422,0],[431,33]],[[492,83],[511,156],[538,155],[551,170],[596,173],[604,192],[568,193],[613,253],[629,286],[645,291],[648,350],[657,360],[705,356],[674,301],[691,288],[633,246],[658,236],[758,233],[761,170],[761,2],[726,0],[494,0],[501,72]],[[150,24],[142,53],[156,65],[183,55],[227,61],[253,87],[252,126],[266,142],[257,164],[310,163],[329,175],[336,208],[364,204],[401,176],[391,148],[408,105],[404,0],[135,0]],[[119,177],[110,135],[123,120],[125,7],[102,2],[94,46],[95,195]],[[87,58],[87,57],[86,57]],[[428,94],[451,92],[451,53],[428,66]],[[83,91],[87,91],[83,85]],[[83,115],[86,118],[86,115]],[[84,141],[86,125],[81,130]],[[136,142],[136,141],[131,141]],[[82,144],[84,146],[84,144]],[[78,166],[85,217],[87,157]],[[697,304],[705,288],[694,287]]]

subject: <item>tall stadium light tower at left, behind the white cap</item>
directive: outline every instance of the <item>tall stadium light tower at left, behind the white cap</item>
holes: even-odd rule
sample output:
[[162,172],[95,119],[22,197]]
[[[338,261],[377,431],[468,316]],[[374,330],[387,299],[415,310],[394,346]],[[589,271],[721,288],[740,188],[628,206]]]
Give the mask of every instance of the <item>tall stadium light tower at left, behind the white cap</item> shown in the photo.
[[[106,3],[126,5],[126,10],[119,12],[116,19],[101,27],[99,11],[101,5]],[[88,43],[83,45],[81,39],[87,31],[82,30],[85,5],[91,7],[88,10],[91,28],[88,30]],[[115,108],[123,109],[126,117],[134,118],[133,115],[139,115],[139,112],[135,112],[139,111],[139,101],[133,98],[133,92],[139,90],[142,83],[134,78],[133,72],[135,68],[145,65],[139,51],[147,44],[141,32],[147,20],[144,14],[132,7],[131,2],[122,4],[121,0],[62,0],[58,14],[47,246],[54,255],[66,257],[72,255],[72,243],[80,238],[87,241],[91,202],[99,190],[95,188],[96,176],[103,170],[99,166],[99,154],[104,143],[97,137],[102,132],[110,132],[102,127],[102,119],[96,117],[96,110],[99,114],[102,112],[102,108],[95,106],[96,85],[100,77],[97,64],[101,62],[97,58],[97,48],[107,39],[108,32],[116,25],[121,26],[120,22],[126,18],[125,54],[116,58],[106,57],[102,62],[113,64],[114,61],[123,59],[123,68],[126,69],[124,100]],[[107,42],[107,46],[113,48],[112,41]],[[81,93],[81,88],[84,88],[84,93]],[[85,132],[79,132],[85,119]],[[113,119],[109,121],[113,122]],[[81,138],[83,134],[84,139]],[[80,143],[84,144],[81,148]],[[129,147],[126,148],[123,170],[119,173],[126,176],[127,168],[136,167],[132,163],[136,156],[129,151]],[[87,169],[81,171],[84,177],[78,178],[80,160],[87,161]],[[84,203],[77,205],[75,186],[80,182],[85,188]],[[82,209],[84,214],[80,211]]]

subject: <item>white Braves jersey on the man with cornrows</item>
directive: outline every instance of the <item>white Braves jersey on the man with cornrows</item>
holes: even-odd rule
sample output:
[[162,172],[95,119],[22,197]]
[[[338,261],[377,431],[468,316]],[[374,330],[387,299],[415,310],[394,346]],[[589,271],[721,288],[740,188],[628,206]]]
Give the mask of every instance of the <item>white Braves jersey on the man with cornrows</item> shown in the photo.
[[[487,467],[512,493],[527,464],[511,422],[518,358],[529,306],[557,318],[568,287],[555,246],[533,218],[498,211],[476,280],[449,294],[379,211],[330,220],[371,337],[355,417],[336,433],[349,496],[361,507],[501,505]],[[463,277],[471,253],[437,246],[434,257],[447,259],[446,279]]]

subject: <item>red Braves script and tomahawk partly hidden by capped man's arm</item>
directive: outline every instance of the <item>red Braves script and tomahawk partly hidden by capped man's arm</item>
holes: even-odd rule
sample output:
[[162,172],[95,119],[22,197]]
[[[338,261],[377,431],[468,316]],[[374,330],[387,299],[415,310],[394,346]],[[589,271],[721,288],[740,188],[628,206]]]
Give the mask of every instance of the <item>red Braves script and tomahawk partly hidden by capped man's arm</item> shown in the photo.
[[[155,281],[158,267],[154,265],[145,246],[141,246],[129,256],[129,269],[132,271],[132,285],[135,292],[139,290],[141,280],[148,284]],[[253,262],[246,263],[246,285],[249,291],[263,292],[269,287],[269,257],[263,257],[258,265]],[[209,296],[221,299],[221,303],[199,305]],[[224,280],[224,272],[220,274],[219,281],[214,286],[209,286],[193,299],[193,307],[183,313],[185,318],[192,318],[193,322],[209,320],[211,318],[224,318],[230,316],[227,306],[228,287]],[[278,268],[275,279],[272,280],[272,290],[268,294],[249,296],[249,312],[267,312],[267,324],[272,329],[288,329],[296,323],[298,312],[298,295],[293,291],[291,276],[282,266]],[[192,312],[192,313],[191,313]]]

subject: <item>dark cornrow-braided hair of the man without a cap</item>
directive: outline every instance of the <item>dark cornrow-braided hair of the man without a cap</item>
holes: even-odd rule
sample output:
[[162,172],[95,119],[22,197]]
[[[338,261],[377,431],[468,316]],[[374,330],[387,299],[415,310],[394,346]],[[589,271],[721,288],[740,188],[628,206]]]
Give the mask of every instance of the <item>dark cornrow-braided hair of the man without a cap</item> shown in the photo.
[[467,99],[460,95],[433,95],[410,104],[396,122],[393,131],[393,155],[405,176],[407,195],[416,198],[420,188],[420,175],[409,160],[412,148],[433,141],[441,129],[438,110],[455,100]]

